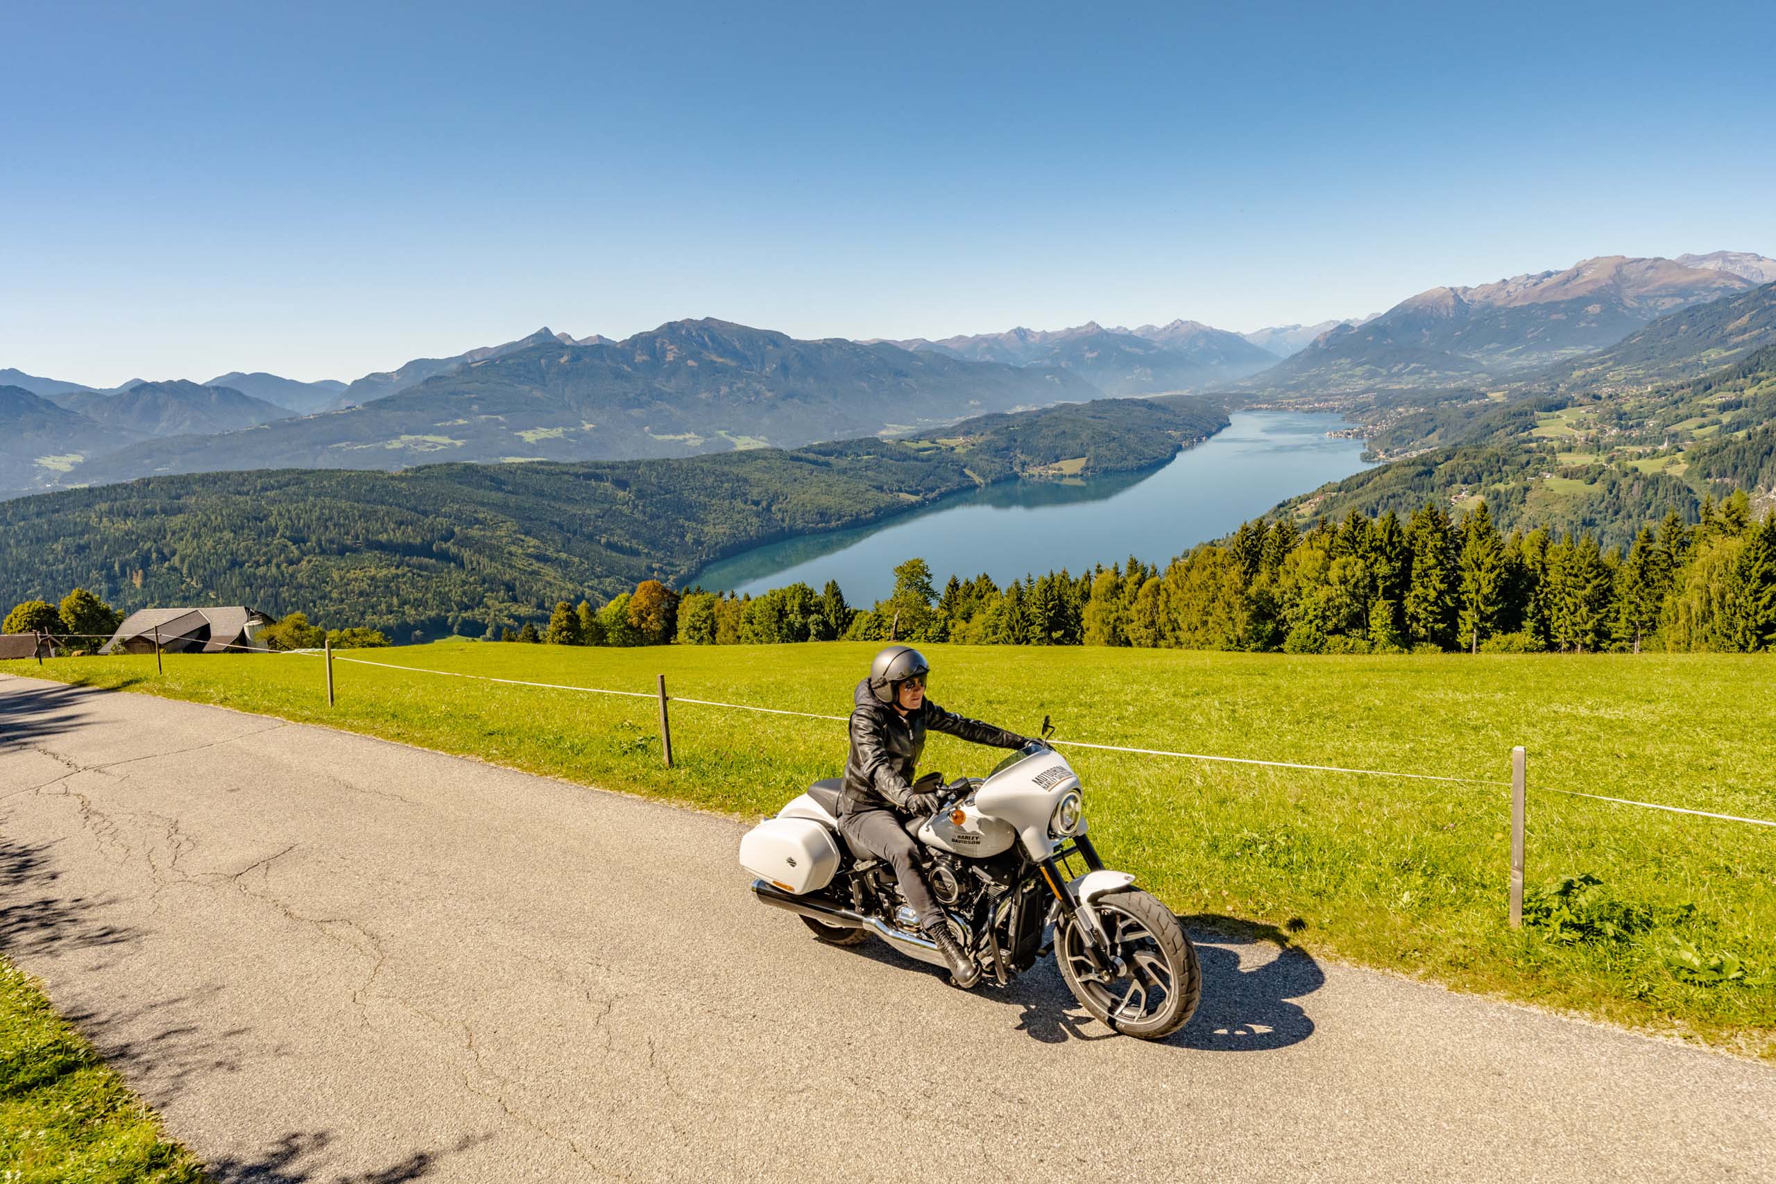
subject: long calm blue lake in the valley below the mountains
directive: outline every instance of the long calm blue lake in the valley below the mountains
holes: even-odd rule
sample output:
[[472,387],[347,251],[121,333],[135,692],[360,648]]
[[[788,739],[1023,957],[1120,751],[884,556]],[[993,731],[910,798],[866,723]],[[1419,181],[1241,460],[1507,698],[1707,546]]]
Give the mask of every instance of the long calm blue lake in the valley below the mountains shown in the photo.
[[1328,437],[1337,415],[1234,412],[1231,424],[1160,469],[1083,481],[1002,481],[874,525],[767,543],[709,564],[687,584],[741,593],[838,580],[868,605],[893,568],[922,556],[938,588],[986,572],[1002,588],[1051,568],[1087,572],[1130,556],[1163,566],[1277,502],[1368,469],[1362,440]]

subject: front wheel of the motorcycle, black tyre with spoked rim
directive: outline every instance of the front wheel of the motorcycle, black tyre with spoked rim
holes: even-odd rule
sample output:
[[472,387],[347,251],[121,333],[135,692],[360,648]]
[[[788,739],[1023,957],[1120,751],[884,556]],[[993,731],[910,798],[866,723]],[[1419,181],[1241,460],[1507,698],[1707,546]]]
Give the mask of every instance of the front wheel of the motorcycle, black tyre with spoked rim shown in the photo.
[[1080,927],[1062,920],[1055,962],[1073,998],[1098,1022],[1142,1040],[1163,1040],[1188,1024],[1202,999],[1202,967],[1172,911],[1138,889],[1099,896],[1096,909],[1121,975],[1098,975]]

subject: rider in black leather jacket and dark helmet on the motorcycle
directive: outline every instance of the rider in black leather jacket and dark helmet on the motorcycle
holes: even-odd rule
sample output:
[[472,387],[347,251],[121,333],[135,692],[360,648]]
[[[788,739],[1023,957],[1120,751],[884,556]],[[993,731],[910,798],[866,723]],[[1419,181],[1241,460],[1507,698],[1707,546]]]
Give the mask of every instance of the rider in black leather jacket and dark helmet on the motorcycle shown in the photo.
[[925,731],[1005,749],[1023,747],[1028,740],[929,701],[929,676],[931,664],[911,646],[888,646],[870,662],[870,676],[858,683],[856,706],[851,708],[851,754],[838,799],[838,829],[854,847],[893,866],[900,895],[943,953],[952,982],[971,987],[980,973],[955,944],[943,909],[918,870],[918,841],[906,833],[906,815],[934,815],[943,804],[940,793],[915,788],[913,769],[925,751]]

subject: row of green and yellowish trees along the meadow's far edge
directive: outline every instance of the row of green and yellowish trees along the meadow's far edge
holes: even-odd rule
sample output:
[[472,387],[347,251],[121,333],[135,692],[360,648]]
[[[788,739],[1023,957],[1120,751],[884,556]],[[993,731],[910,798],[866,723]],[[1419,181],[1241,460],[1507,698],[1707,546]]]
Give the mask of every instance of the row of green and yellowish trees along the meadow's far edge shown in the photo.
[[[893,635],[1289,653],[1771,650],[1776,517],[1753,520],[1742,493],[1705,502],[1700,517],[1696,525],[1677,515],[1657,529],[1643,524],[1625,554],[1593,534],[1501,534],[1485,504],[1462,518],[1437,506],[1405,518],[1352,513],[1305,533],[1293,518],[1256,520],[1163,570],[1130,557],[1005,588],[987,575],[952,577],[938,593],[924,559],[909,559],[895,568],[893,595],[868,611],[847,607],[836,584],[824,593],[790,584],[744,600],[655,593],[664,604],[657,632],[684,644]],[[629,598],[613,604],[627,611]],[[547,639],[574,641],[572,628],[556,628],[568,605],[556,614]],[[622,612],[584,605],[579,618],[620,625]],[[595,644],[641,644],[591,632]]]

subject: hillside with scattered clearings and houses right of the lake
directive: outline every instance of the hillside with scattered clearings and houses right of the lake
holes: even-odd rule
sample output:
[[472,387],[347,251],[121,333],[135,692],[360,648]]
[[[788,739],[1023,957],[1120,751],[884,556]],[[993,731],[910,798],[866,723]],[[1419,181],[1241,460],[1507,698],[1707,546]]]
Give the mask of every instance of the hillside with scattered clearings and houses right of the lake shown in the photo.
[[1510,389],[1373,392],[1350,412],[1391,463],[1293,499],[1298,515],[1485,497],[1506,527],[1591,531],[1611,547],[1666,511],[1694,522],[1710,495],[1742,490],[1762,511],[1776,499],[1776,284]]

